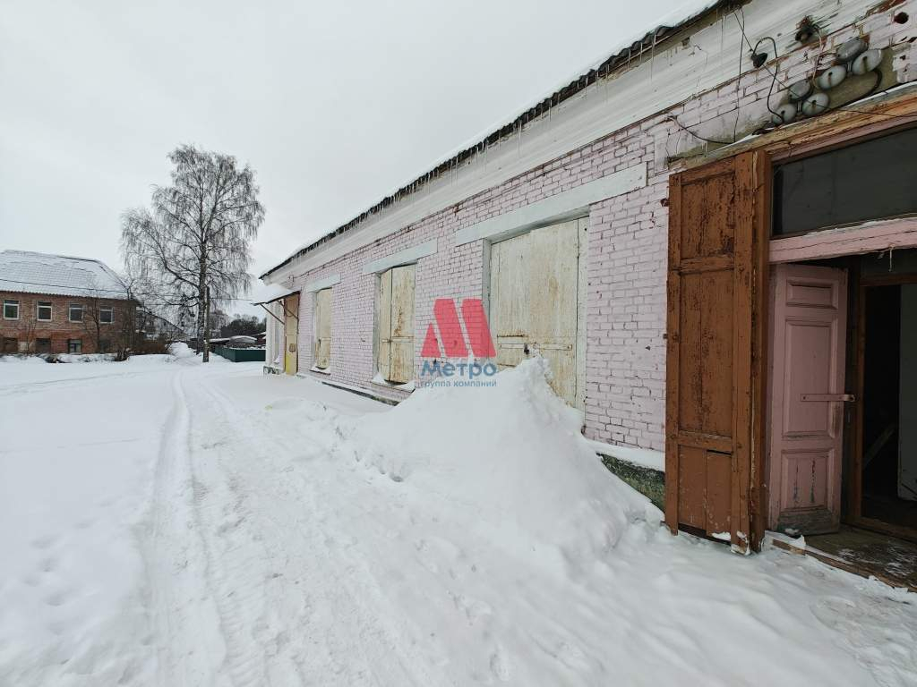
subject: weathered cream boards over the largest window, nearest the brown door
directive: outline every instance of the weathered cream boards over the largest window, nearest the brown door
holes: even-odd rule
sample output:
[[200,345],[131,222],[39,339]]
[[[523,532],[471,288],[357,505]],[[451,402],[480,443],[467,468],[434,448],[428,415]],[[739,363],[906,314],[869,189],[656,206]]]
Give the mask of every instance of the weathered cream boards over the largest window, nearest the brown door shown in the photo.
[[491,247],[491,331],[499,369],[533,355],[551,368],[551,387],[582,407],[585,218],[514,236]]

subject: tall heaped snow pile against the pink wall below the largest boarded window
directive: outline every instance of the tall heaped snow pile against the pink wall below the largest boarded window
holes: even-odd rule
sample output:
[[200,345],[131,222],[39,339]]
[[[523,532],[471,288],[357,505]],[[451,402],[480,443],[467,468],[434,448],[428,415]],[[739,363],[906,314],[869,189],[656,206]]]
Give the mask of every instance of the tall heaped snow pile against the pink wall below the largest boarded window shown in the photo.
[[[658,523],[645,496],[609,474],[571,409],[532,359],[494,387],[427,387],[391,412],[352,424],[363,460],[457,507],[471,531],[502,529],[560,548],[579,567],[601,557],[629,522]],[[521,535],[525,533],[525,536]]]

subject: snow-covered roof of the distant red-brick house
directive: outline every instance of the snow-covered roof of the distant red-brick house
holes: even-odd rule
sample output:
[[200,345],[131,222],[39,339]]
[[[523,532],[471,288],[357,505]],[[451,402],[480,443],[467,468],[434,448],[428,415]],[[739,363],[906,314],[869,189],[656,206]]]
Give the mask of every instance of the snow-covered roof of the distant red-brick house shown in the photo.
[[127,299],[121,278],[100,260],[25,250],[0,252],[0,291]]

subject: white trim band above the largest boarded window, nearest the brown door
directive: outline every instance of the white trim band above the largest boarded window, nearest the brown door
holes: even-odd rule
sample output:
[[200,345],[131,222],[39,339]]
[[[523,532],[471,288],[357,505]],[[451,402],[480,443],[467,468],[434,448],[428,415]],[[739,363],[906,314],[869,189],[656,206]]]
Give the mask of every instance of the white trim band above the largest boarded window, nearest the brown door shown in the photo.
[[604,201],[645,186],[646,162],[641,162],[575,189],[555,193],[542,201],[459,229],[455,233],[455,242],[456,245],[469,244],[482,238],[500,238],[501,234],[514,234],[537,226],[565,222],[587,214],[593,202]]

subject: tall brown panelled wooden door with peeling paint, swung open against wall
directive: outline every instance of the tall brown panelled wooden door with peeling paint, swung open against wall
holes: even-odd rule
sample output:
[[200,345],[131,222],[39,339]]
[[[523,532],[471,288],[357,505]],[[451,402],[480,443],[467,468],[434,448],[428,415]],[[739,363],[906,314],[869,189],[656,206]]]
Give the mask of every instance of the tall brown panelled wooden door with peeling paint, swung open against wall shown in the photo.
[[765,180],[757,154],[744,153],[675,174],[669,189],[666,521],[738,551],[757,548],[752,350],[761,326],[753,311],[763,313]]

